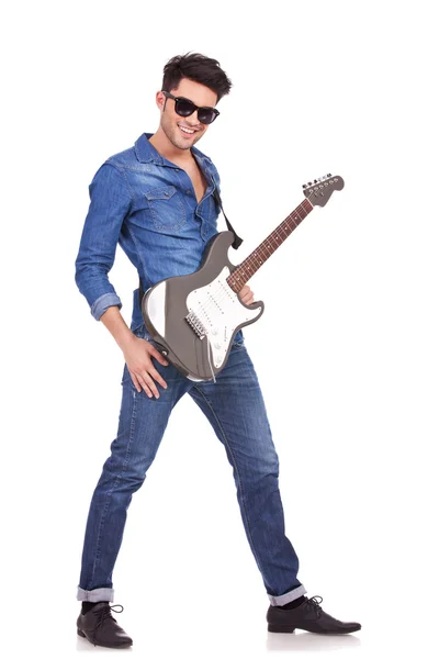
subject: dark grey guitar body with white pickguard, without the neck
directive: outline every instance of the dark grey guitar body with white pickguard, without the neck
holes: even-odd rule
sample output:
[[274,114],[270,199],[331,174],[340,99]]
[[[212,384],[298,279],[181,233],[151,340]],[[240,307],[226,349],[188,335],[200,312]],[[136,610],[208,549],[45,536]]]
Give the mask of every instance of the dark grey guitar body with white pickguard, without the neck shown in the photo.
[[160,351],[194,381],[212,380],[225,366],[236,333],[263,312],[263,302],[244,304],[226,281],[236,268],[228,259],[233,241],[229,231],[217,234],[196,272],[164,279],[142,300],[146,328]]

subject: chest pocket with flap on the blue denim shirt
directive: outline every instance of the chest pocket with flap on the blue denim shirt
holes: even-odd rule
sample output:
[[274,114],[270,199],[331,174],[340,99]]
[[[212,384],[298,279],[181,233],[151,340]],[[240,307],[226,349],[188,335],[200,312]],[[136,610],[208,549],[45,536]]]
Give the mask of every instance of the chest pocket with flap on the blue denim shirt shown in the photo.
[[176,230],[183,226],[187,214],[183,200],[173,186],[161,186],[145,192],[146,210],[158,231]]

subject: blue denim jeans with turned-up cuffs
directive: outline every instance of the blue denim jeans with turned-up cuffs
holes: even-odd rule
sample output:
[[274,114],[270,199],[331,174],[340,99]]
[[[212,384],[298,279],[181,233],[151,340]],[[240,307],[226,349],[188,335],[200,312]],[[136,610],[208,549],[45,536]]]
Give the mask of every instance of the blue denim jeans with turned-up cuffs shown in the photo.
[[[135,332],[147,337],[145,325]],[[306,591],[297,580],[299,559],[285,536],[279,492],[279,460],[254,365],[240,339],[216,382],[193,382],[155,360],[168,388],[160,398],[137,392],[126,364],[117,436],[95,487],[82,551],[77,599],[114,601],[113,568],[132,495],[143,484],[169,415],[184,393],[195,401],[224,445],[233,467],[247,539],[271,604],[281,606]]]

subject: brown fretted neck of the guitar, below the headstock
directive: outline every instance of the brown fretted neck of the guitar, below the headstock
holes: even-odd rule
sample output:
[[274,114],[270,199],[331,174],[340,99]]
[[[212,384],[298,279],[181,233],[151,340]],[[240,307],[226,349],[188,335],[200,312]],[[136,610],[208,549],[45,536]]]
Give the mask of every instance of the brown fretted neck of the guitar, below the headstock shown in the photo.
[[280,245],[293,233],[302,220],[313,210],[305,199],[254,252],[227,277],[228,286],[238,293],[247,281],[270,258]]

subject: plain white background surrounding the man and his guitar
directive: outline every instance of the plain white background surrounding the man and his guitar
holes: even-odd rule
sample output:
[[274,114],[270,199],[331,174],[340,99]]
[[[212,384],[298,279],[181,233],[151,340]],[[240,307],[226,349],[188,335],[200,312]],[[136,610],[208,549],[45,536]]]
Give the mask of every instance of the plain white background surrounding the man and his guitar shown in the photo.
[[[346,182],[251,280],[266,312],[245,337],[299,576],[326,611],[363,628],[267,633],[232,469],[190,399],[133,498],[115,617],[146,657],[436,656],[435,4],[91,0],[3,12],[8,656],[93,649],[76,636],[76,589],[123,355],[90,315],[74,261],[94,171],[157,129],[162,67],[188,51],[218,59],[234,83],[199,144],[245,238],[234,263],[300,203],[303,182],[327,172]],[[120,248],[110,280],[130,324],[137,275]]]

